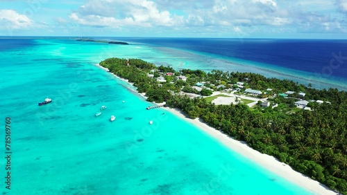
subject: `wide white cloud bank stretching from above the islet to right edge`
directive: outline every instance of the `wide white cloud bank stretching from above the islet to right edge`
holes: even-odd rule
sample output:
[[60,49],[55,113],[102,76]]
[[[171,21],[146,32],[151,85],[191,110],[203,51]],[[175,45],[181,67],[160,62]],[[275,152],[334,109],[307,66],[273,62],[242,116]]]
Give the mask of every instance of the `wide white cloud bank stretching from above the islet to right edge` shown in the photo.
[[[149,34],[169,32],[182,35],[194,32],[213,36],[221,32],[266,34],[285,33],[285,30],[315,33],[346,31],[343,19],[324,10],[332,10],[333,3],[316,6],[318,1],[88,0],[72,12],[69,18],[81,26],[140,33],[146,30]],[[347,0],[335,1],[341,12],[347,12]]]

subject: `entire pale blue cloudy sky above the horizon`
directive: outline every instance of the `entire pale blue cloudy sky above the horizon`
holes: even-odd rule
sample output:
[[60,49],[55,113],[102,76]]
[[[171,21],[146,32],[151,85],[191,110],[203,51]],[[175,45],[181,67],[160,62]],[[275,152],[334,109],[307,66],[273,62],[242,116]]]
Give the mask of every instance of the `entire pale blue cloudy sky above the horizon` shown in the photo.
[[347,38],[347,0],[0,0],[0,36]]

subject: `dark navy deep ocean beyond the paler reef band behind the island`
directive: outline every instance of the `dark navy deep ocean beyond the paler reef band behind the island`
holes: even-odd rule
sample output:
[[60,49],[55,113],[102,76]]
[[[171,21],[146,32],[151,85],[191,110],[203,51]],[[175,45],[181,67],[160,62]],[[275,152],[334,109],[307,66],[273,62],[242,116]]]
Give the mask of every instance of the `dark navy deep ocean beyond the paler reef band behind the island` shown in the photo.
[[[115,39],[115,38],[114,38]],[[201,39],[201,38],[121,38],[163,47],[273,64],[316,73],[341,53],[341,66],[332,75],[347,77],[347,40],[320,39]],[[337,60],[339,61],[339,59]],[[334,62],[334,66],[340,64]]]

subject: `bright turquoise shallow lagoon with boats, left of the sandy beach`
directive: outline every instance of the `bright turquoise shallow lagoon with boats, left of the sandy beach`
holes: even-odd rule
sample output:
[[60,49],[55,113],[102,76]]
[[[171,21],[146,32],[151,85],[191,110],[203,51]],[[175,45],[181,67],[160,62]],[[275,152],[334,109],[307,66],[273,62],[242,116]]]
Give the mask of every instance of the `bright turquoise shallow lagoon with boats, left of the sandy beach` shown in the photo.
[[[165,59],[146,46],[59,39],[1,52],[1,118],[12,121],[12,189],[2,192],[310,194],[175,115],[146,110],[151,103],[94,66],[106,57]],[[37,106],[45,97],[53,102]]]

